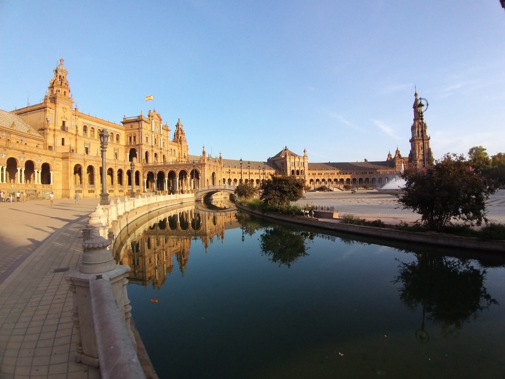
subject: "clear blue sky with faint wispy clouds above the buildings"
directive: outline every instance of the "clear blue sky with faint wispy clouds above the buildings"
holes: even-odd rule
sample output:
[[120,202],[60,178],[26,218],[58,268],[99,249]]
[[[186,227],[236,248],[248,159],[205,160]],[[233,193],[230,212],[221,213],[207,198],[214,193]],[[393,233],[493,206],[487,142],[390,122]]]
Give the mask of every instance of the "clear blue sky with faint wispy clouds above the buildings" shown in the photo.
[[406,156],[416,89],[436,159],[505,152],[499,0],[0,0],[0,53],[0,109],[40,102],[63,58],[81,112],[155,108],[195,155]]

